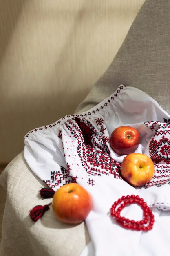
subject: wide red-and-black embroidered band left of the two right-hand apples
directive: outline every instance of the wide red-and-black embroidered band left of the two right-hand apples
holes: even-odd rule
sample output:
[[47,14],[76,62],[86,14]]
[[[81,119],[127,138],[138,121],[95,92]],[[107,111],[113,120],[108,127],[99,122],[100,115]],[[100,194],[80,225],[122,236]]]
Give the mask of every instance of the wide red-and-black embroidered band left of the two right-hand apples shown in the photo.
[[[77,154],[88,175],[114,175],[115,178],[121,179],[120,164],[110,157],[106,146],[108,138],[106,136],[102,138],[102,135],[89,120],[76,118],[75,121],[77,126],[75,122],[69,120],[69,125],[66,124],[66,127],[77,139]],[[101,126],[104,124],[102,119],[96,119],[96,121]]]

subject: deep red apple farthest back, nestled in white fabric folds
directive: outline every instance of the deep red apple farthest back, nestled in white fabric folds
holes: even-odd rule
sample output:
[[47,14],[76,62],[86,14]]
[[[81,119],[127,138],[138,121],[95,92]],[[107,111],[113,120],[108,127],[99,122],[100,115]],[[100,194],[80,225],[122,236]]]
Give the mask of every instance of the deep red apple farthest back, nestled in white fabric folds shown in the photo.
[[140,143],[139,132],[131,126],[119,126],[110,136],[110,146],[118,155],[133,153]]

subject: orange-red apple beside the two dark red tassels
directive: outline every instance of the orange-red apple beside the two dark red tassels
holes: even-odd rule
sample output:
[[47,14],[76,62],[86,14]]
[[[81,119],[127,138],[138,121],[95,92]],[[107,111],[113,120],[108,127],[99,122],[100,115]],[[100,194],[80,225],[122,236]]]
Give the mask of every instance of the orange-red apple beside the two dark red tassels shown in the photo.
[[92,209],[91,195],[77,183],[66,184],[55,192],[52,207],[58,220],[80,223]]

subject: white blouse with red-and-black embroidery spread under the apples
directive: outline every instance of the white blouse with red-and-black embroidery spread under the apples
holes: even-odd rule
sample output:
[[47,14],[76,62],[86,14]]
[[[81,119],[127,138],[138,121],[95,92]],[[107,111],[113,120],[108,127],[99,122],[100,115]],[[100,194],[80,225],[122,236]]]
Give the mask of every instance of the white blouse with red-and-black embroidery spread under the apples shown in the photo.
[[[141,144],[136,152],[154,161],[155,175],[142,188],[130,186],[122,179],[119,170],[125,156],[117,155],[110,148],[109,136],[121,125],[139,131]],[[166,230],[162,221],[166,217],[160,216],[159,209],[169,216],[170,115],[154,99],[137,88],[120,85],[115,93],[91,110],[34,129],[24,141],[26,162],[47,185],[56,191],[64,184],[77,182],[92,195],[93,209],[86,224],[96,256],[135,256],[139,250],[145,252],[147,247],[147,252],[159,255],[158,245],[154,249],[151,242],[151,248],[147,244],[147,240],[156,237],[159,225],[154,224],[148,233],[131,231],[120,227],[110,217],[110,208],[118,198],[139,195],[154,209],[155,222],[162,223]],[[126,207],[124,214],[136,220],[142,218],[142,211],[136,205]],[[166,236],[170,239],[168,230]],[[166,241],[163,246],[168,248]]]

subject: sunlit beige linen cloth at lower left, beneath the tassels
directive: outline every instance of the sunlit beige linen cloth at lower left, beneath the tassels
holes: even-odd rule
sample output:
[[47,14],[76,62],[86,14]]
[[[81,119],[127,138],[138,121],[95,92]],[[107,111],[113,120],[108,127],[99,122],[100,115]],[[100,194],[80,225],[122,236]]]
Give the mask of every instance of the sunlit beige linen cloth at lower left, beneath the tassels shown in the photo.
[[23,152],[5,168],[0,182],[7,188],[0,255],[79,256],[90,241],[84,222],[64,224],[55,218],[51,207],[40,221],[31,222],[29,210],[52,200],[38,195],[44,182],[32,173]]

